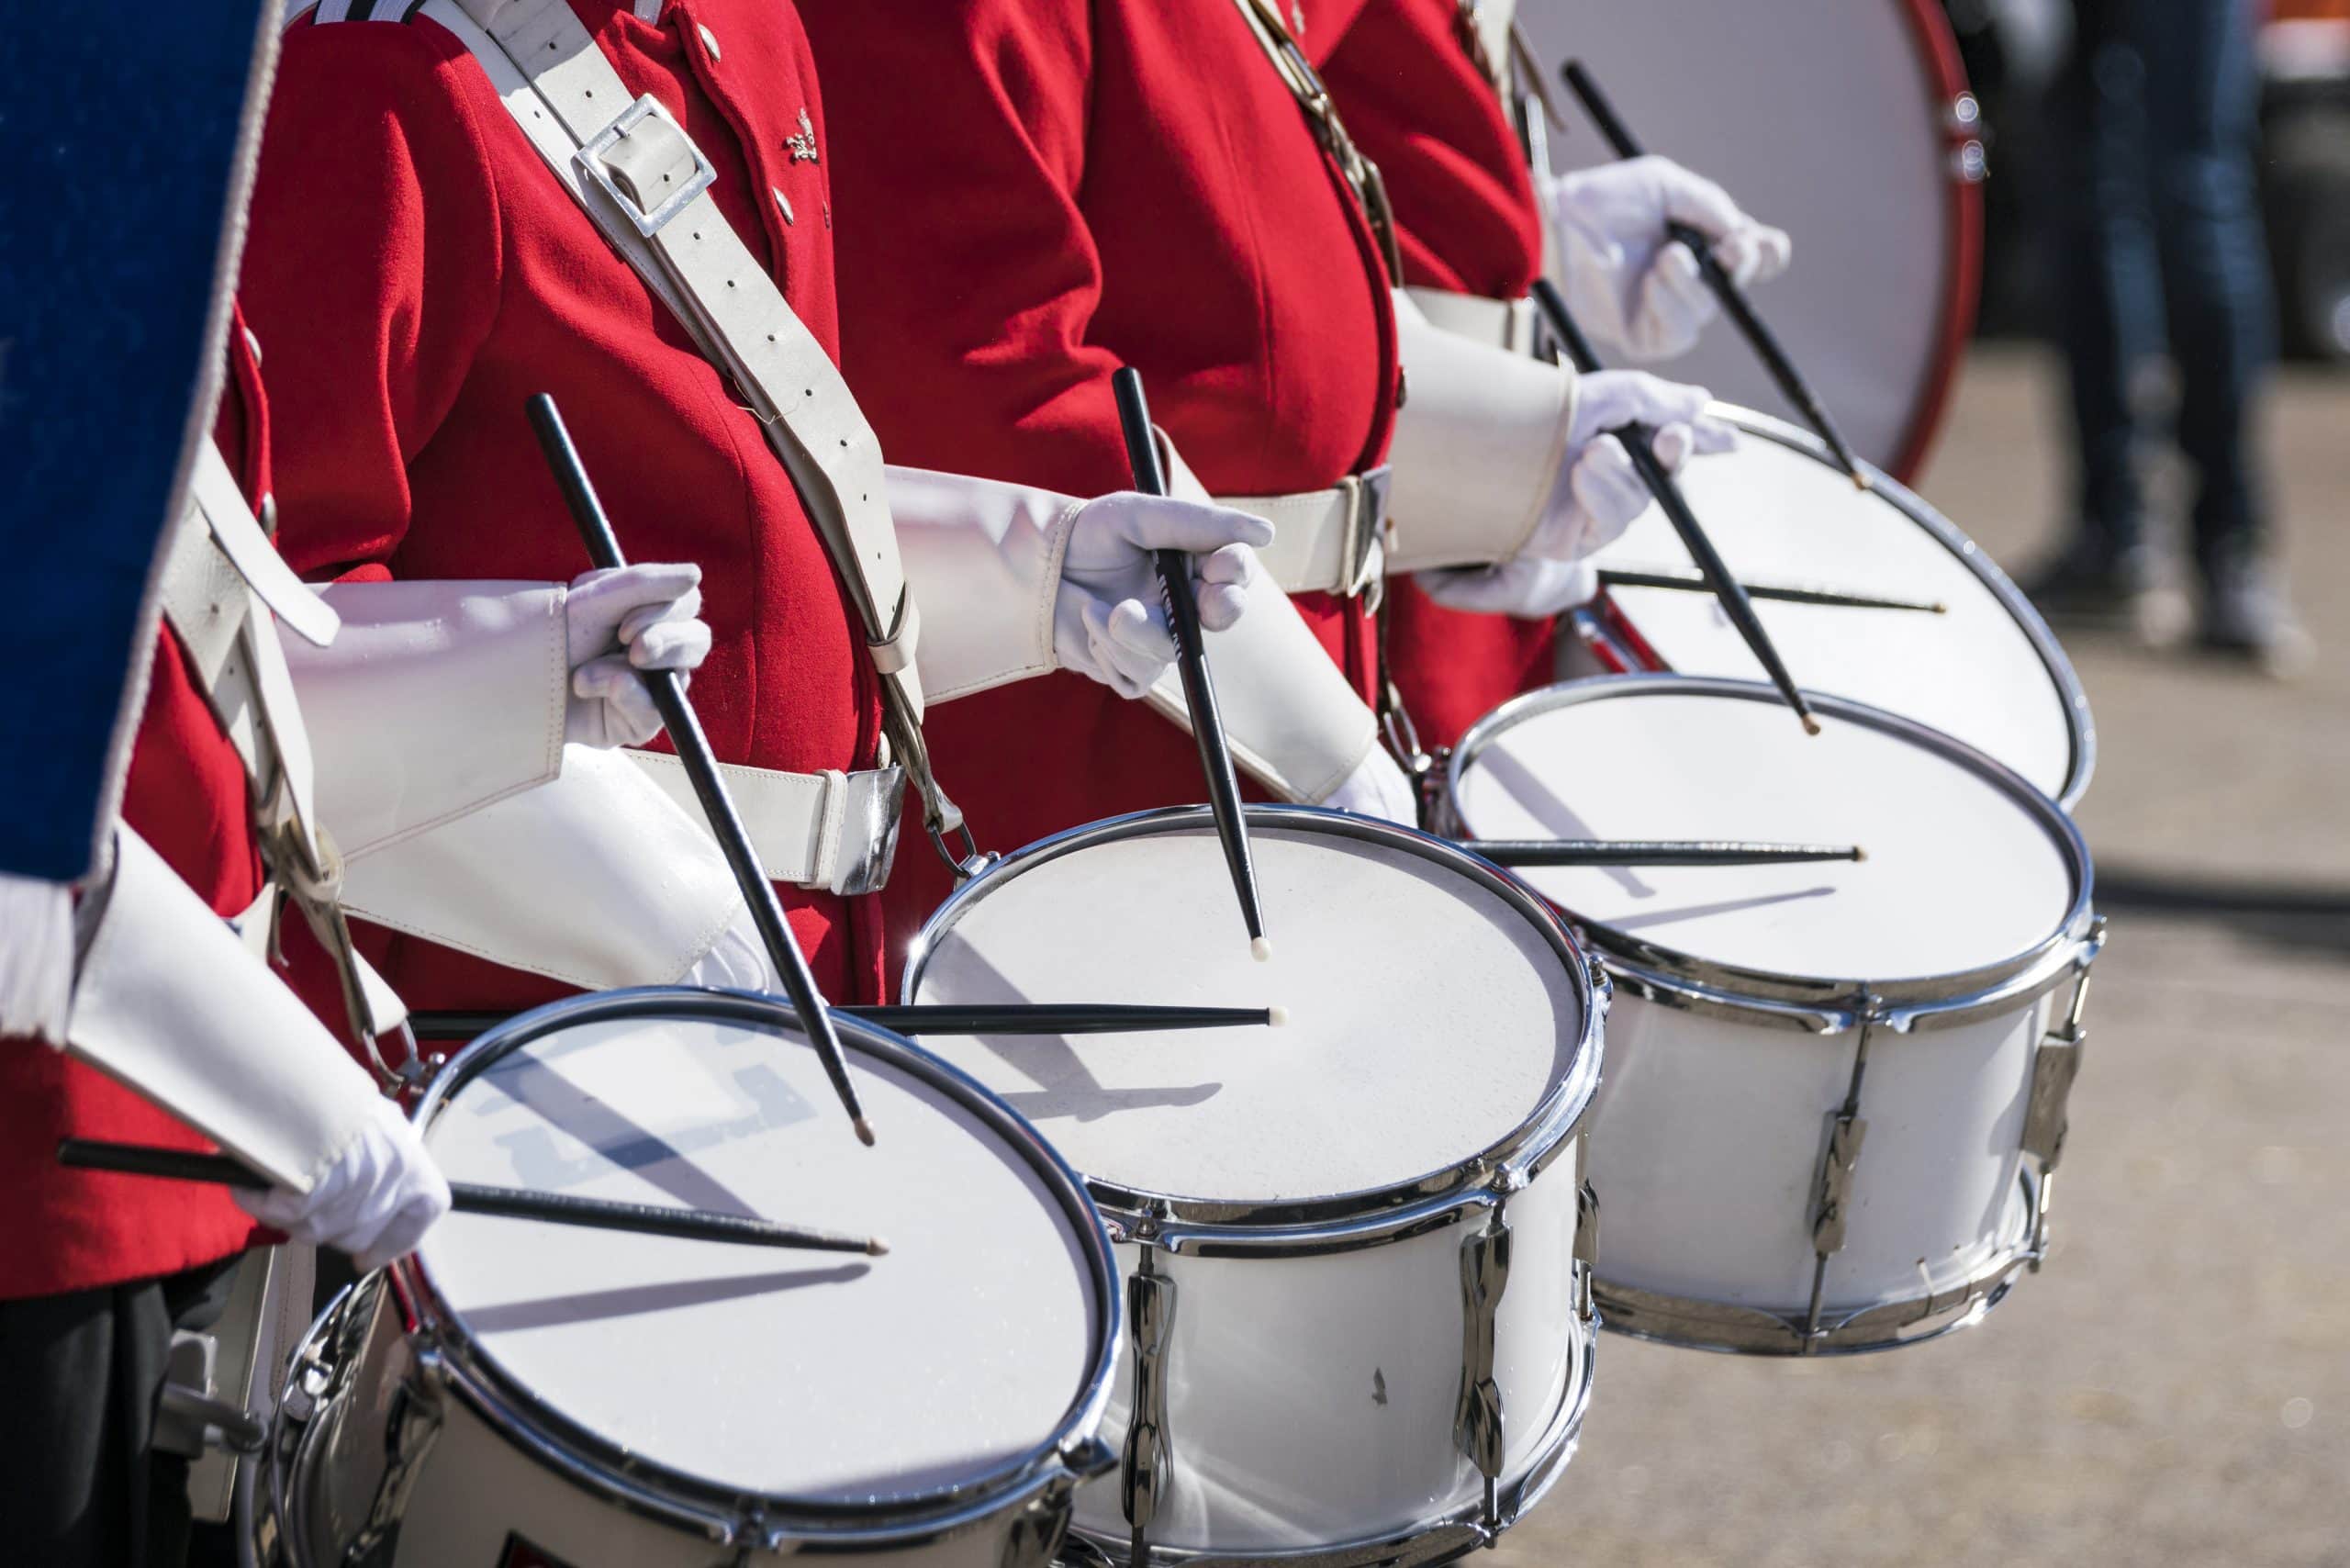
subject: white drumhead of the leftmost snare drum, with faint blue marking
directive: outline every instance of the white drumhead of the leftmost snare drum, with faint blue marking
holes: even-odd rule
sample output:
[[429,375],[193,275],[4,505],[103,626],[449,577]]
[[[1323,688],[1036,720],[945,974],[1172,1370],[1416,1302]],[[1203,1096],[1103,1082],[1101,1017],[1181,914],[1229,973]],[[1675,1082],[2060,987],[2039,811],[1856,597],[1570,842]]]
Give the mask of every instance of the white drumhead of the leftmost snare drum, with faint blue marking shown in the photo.
[[743,1493],[858,1502],[1055,1436],[1109,1331],[1079,1220],[940,1086],[851,1051],[860,1147],[797,1034],[564,1027],[463,1084],[451,1180],[881,1234],[884,1258],[449,1215],[423,1269],[479,1352],[569,1422]]

